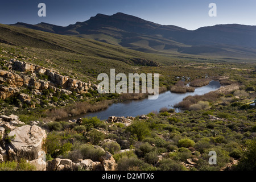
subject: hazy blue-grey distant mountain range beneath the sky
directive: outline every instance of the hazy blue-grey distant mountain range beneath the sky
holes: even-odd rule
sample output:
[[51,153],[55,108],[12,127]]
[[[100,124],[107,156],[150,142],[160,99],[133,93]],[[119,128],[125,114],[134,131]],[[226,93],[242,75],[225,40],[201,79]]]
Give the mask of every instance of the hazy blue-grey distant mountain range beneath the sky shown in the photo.
[[256,57],[256,26],[241,24],[219,24],[191,31],[117,13],[111,16],[97,14],[67,27],[48,23],[11,25],[99,40],[142,52]]

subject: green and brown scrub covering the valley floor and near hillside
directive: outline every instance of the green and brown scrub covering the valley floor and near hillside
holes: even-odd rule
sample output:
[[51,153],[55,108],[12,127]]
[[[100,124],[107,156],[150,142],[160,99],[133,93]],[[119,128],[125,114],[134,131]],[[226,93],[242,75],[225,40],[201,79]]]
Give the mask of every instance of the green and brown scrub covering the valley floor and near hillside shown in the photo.
[[[34,89],[24,86],[20,93],[33,96],[34,101],[22,103],[14,94],[0,100],[0,112],[10,115],[15,109],[24,123],[39,120],[39,125],[47,131],[44,150],[48,160],[98,161],[105,153],[102,147],[112,153],[119,170],[216,171],[233,159],[238,160],[238,164],[232,169],[255,170],[256,111],[248,104],[255,99],[255,61],[200,55],[153,55],[75,36],[5,25],[0,26],[0,31],[0,38],[9,40],[9,44],[0,43],[0,69],[3,71],[9,70],[6,62],[16,57],[96,84],[99,73],[109,73],[110,68],[115,68],[116,72],[125,74],[159,73],[162,92],[167,89],[193,92],[192,86],[207,85],[210,80],[218,80],[225,86],[203,96],[184,98],[176,105],[183,109],[181,113],[163,107],[159,113],[148,113],[148,119],[135,117],[129,126],[108,123],[97,117],[82,118],[80,123],[64,120],[106,109],[114,102],[142,99],[146,94],[101,95],[96,90],[88,90],[80,95],[76,92],[66,95],[46,89],[35,95]],[[23,39],[19,35],[30,36]],[[205,79],[206,76],[210,78]],[[39,77],[48,80],[44,75]],[[10,84],[1,82],[1,85]],[[35,100],[42,104],[33,104]],[[6,142],[10,139],[6,138]],[[130,150],[120,152],[123,149]],[[208,163],[209,151],[217,152],[217,165]],[[188,161],[195,163],[193,167],[185,165]],[[6,162],[0,164],[0,169],[32,169],[26,165]]]

